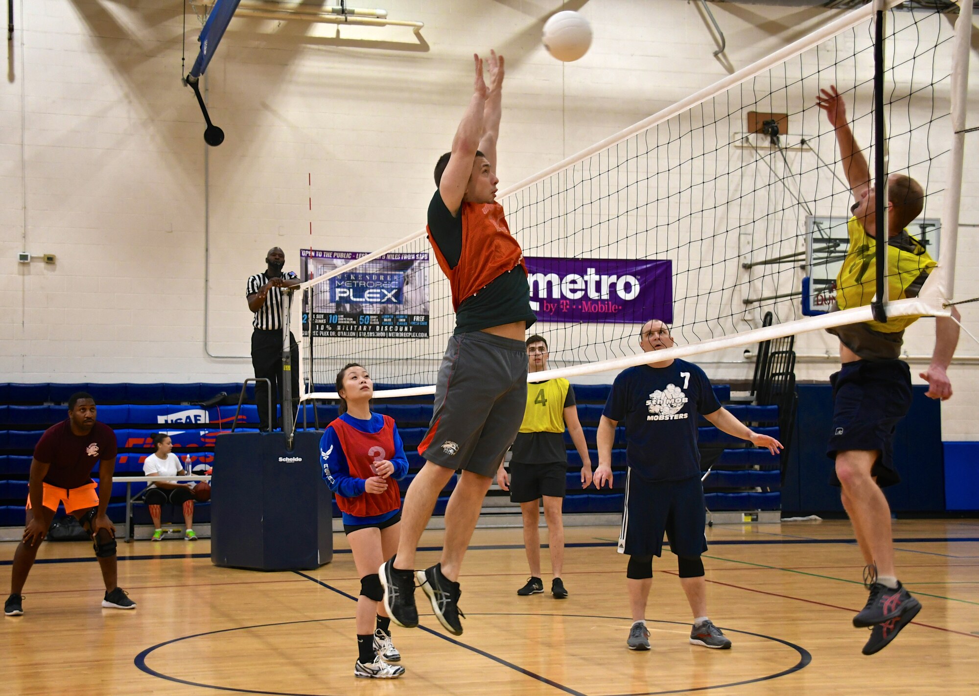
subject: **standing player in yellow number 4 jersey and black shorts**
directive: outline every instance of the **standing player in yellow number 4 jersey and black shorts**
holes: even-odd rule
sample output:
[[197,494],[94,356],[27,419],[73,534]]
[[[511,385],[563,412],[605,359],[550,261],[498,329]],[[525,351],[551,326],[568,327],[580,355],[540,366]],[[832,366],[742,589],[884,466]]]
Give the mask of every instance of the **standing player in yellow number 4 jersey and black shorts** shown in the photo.
[[[534,335],[527,339],[528,372],[547,369],[547,341]],[[564,524],[561,522],[561,506],[564,491],[568,487],[568,450],[564,446],[564,429],[567,424],[571,441],[582,455],[582,487],[591,484],[591,459],[584,441],[582,423],[578,420],[575,390],[568,380],[557,378],[528,385],[527,408],[520,433],[510,447],[510,473],[507,475],[503,462],[496,472],[496,482],[503,490],[510,491],[510,500],[520,503],[524,517],[524,549],[531,567],[531,578],[517,590],[525,597],[544,591],[540,577],[540,508],[543,498],[544,520],[547,522],[548,546],[551,554],[551,594],[555,599],[565,599],[568,590],[561,580],[564,569]]]

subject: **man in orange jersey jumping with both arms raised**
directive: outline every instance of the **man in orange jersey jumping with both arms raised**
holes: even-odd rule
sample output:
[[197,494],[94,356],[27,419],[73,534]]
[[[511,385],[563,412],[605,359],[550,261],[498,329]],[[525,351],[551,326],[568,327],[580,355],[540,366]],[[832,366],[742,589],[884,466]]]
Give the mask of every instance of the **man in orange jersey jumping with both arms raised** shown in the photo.
[[[432,423],[418,447],[425,466],[404,496],[397,554],[379,573],[385,607],[398,626],[418,626],[417,577],[440,623],[454,635],[462,633],[462,557],[496,468],[523,421],[524,338],[536,320],[523,252],[495,201],[503,57],[489,52],[489,87],[483,60],[473,58],[473,98],[451,152],[436,164],[438,190],[428,210],[429,241],[452,289],[455,333],[439,370]],[[442,562],[416,574],[418,540],[456,470],[462,474],[445,508]]]

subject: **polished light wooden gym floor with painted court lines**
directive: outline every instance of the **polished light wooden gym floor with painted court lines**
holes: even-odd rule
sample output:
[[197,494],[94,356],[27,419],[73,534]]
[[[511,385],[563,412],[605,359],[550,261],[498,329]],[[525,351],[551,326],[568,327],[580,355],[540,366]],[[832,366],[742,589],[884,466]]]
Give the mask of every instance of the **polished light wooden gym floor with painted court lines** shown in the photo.
[[[625,645],[617,528],[567,530],[564,601],[516,595],[529,575],[520,530],[478,530],[462,579],[465,633],[445,633],[419,591],[423,627],[394,628],[407,670],[394,681],[352,675],[359,580],[343,534],[334,561],[308,573],[215,568],[206,540],[120,544],[119,583],[139,603],[132,612],[101,608],[90,545],[45,543],[24,616],[0,617],[0,684],[5,694],[45,696],[979,693],[979,521],[896,523],[900,576],[924,609],[872,657],[861,655],[867,630],[850,624],[866,593],[848,524],[707,534],[710,615],[729,651],[687,642],[670,553],[654,563],[652,650],[636,653]],[[435,562],[441,539],[426,533],[420,564]],[[5,590],[14,549],[0,544]]]

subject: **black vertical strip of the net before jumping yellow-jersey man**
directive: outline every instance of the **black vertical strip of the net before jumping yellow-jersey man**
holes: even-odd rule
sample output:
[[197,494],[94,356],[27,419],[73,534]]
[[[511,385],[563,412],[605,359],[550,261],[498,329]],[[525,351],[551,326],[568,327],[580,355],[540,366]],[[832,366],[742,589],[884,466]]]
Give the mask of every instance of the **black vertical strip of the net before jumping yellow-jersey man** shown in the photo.
[[876,294],[871,307],[875,321],[887,323],[887,132],[884,124],[884,34],[887,23],[883,0],[874,0],[873,36],[873,187],[874,260],[877,269]]

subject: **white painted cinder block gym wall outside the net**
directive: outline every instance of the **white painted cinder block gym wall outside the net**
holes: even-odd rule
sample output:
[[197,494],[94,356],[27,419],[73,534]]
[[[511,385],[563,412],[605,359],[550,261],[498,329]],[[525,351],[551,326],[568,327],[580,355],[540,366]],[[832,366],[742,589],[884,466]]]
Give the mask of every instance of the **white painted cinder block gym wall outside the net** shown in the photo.
[[[250,375],[247,276],[272,246],[298,268],[302,247],[370,251],[418,229],[432,164],[471,93],[473,51],[495,47],[507,58],[502,186],[726,74],[697,6],[678,0],[591,0],[582,12],[593,47],[566,66],[539,42],[538,18],[559,9],[556,0],[386,0],[392,19],[425,23],[422,40],[404,27],[236,19],[208,71],[210,113],[227,139],[208,149],[180,82],[199,31],[189,15],[181,67],[182,0],[16,5],[0,85],[4,381]],[[713,9],[735,69],[839,14]],[[967,143],[959,299],[979,296],[979,145]],[[58,260],[20,264],[20,251]],[[979,306],[961,310],[979,333]],[[933,332],[929,319],[909,331],[915,375]],[[809,334],[797,349],[835,347]],[[979,347],[963,337],[959,354]],[[703,357],[711,374],[750,374],[747,364]],[[832,370],[832,360],[803,359],[797,371],[826,379]],[[943,436],[979,439],[979,365],[956,365],[953,379]]]

